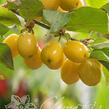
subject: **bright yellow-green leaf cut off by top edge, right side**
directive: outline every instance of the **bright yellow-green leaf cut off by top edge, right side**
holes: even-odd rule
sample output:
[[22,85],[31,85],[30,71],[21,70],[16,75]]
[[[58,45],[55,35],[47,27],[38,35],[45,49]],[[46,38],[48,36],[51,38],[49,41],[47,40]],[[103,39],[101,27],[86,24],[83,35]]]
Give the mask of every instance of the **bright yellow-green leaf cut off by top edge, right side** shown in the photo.
[[107,3],[107,0],[86,0],[88,6],[101,8],[104,4]]

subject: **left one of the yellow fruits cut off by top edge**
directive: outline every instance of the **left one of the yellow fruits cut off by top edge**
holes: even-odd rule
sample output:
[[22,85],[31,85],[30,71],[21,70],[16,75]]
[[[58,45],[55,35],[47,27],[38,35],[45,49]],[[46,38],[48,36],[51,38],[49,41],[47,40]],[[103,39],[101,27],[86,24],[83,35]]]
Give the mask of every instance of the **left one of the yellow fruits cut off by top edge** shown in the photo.
[[41,0],[45,9],[53,9],[56,10],[60,4],[60,0]]

